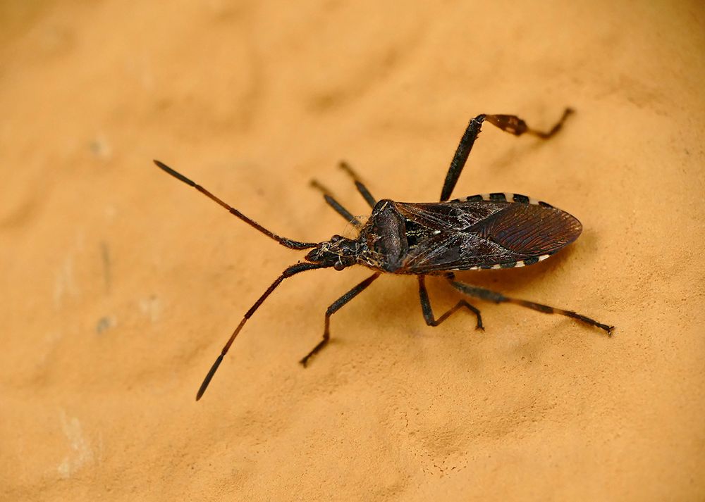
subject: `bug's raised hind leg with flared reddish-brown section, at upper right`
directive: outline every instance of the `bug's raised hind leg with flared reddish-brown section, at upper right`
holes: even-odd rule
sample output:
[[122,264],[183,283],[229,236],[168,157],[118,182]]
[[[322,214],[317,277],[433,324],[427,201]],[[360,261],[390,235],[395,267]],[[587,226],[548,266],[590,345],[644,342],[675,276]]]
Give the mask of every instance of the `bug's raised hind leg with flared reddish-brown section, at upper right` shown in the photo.
[[462,138],[460,138],[458,149],[455,150],[453,160],[450,161],[450,168],[448,168],[448,174],[446,174],[446,180],[443,182],[443,189],[441,190],[441,202],[450,199],[450,194],[453,193],[455,184],[458,182],[458,177],[460,177],[460,172],[462,172],[462,168],[465,167],[467,157],[470,155],[470,150],[472,150],[472,145],[475,139],[477,139],[477,134],[480,133],[482,123],[485,120],[515,136],[521,136],[527,132],[541,139],[548,139],[560,130],[560,127],[563,126],[563,122],[565,122],[565,119],[568,118],[571,113],[573,113],[571,108],[565,108],[563,116],[548,132],[532,129],[524,120],[518,118],[516,115],[486,115],[484,113],[477,115],[477,117],[470,120],[470,123],[467,124],[465,132],[462,134]]

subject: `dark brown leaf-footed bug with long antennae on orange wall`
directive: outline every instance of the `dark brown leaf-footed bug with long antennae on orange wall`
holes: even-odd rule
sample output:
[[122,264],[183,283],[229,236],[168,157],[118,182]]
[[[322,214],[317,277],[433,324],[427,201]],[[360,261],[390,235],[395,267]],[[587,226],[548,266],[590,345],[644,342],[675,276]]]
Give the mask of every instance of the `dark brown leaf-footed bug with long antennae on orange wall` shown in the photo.
[[363,224],[355,218],[319,182],[314,180],[312,185],[323,192],[326,203],[333,210],[357,229],[358,234],[355,239],[333,235],[329,241],[301,242],[281,237],[240,213],[207,189],[192,182],[188,177],[181,175],[160,161],[154,161],[159,168],[168,174],[190,187],[194,187],[240,220],[255,227],[259,232],[274,239],[282,246],[297,250],[310,249],[305,256],[305,261],[286,268],[264,291],[262,296],[259,296],[250,310],[247,310],[243,320],[235,328],[204,378],[196,394],[196,400],[203,396],[223,357],[228,353],[245,322],[252,317],[272,291],[286,278],[318,268],[332,267],[335,270],[343,270],[352,265],[363,265],[374,270],[374,273],[331,303],[331,306],[326,310],[323,338],[300,360],[304,366],[328,344],[331,315],[338,312],[383,273],[417,276],[422,313],[429,326],[438,326],[457,310],[466,308],[475,315],[476,329],[484,330],[480,311],[465,299],[458,301],[453,308],[450,308],[439,318],[435,317],[424,280],[427,275],[438,275],[444,277],[450,286],[467,296],[494,303],[514,303],[548,314],[565,315],[587,325],[598,327],[611,335],[613,326],[602,324],[585,315],[533,301],[510,298],[496,291],[459,282],[453,274],[455,270],[515,268],[532,265],[560,251],[580,235],[582,225],[577,218],[548,203],[537,201],[528,196],[498,192],[449,200],[483,123],[490,123],[515,136],[527,133],[541,139],[548,139],[560,130],[565,119],[571,113],[572,110],[566,108],[558,123],[548,132],[528,127],[524,120],[515,115],[477,115],[470,120],[465,133],[462,134],[453,161],[450,162],[446,180],[443,182],[439,202],[408,203],[388,199],[377,201],[367,187],[362,184],[350,165],[341,163],[341,168],[353,179],[357,191],[372,207],[372,215],[367,222]]

